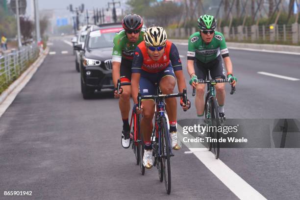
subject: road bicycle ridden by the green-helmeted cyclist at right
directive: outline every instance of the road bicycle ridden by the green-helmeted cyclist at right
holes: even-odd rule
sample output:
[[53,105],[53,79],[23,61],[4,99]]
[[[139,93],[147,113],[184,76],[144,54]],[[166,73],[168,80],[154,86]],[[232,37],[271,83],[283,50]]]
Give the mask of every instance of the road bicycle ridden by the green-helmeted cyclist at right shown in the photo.
[[[208,76],[209,71],[208,71]],[[207,78],[208,79],[208,78]],[[219,111],[218,111],[218,101],[216,98],[216,90],[215,85],[217,83],[225,83],[229,82],[229,79],[209,79],[209,80],[198,80],[200,84],[207,84],[207,93],[205,96],[205,107],[204,107],[204,122],[210,127],[215,126],[217,128],[209,128],[207,131],[210,139],[207,142],[207,149],[212,150],[215,154],[215,158],[218,159],[220,155],[220,132],[218,132],[218,127],[221,124],[224,124],[223,119],[219,119]],[[235,93],[235,87],[231,86],[230,95]],[[196,95],[196,88],[193,88],[193,96]],[[212,131],[210,131],[212,129]]]

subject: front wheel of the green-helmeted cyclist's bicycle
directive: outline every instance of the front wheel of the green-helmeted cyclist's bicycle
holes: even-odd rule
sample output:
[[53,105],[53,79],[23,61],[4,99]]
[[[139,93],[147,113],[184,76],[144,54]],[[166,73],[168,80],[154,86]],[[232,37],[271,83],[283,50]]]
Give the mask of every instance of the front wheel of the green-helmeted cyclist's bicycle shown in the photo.
[[[211,107],[212,107],[211,109],[212,125],[217,126],[218,129],[220,125],[220,121],[219,121],[219,111],[218,111],[218,103],[216,97],[212,98]],[[220,133],[218,132],[218,130],[213,131],[212,136],[213,136],[212,138],[217,139],[216,142],[212,142],[212,146],[213,146],[213,153],[215,154],[216,159],[218,159],[220,154],[220,142],[219,142]]]

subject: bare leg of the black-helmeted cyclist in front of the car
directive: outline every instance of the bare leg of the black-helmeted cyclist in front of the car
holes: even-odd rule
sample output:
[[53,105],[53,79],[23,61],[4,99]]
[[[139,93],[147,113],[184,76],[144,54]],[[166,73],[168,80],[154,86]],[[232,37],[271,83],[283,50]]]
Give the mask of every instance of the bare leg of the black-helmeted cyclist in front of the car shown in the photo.
[[122,119],[128,119],[130,111],[130,97],[131,97],[131,86],[124,85],[122,86],[123,93],[119,100],[119,107],[121,111]]

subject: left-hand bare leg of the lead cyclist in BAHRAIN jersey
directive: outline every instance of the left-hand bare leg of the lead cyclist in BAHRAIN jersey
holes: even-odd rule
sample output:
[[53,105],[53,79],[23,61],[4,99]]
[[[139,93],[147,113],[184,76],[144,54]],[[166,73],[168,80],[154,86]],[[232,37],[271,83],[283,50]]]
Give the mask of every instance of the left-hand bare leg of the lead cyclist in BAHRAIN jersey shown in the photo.
[[141,120],[141,131],[144,136],[144,141],[151,141],[151,132],[153,129],[152,119],[154,116],[154,101],[142,100],[143,118]]

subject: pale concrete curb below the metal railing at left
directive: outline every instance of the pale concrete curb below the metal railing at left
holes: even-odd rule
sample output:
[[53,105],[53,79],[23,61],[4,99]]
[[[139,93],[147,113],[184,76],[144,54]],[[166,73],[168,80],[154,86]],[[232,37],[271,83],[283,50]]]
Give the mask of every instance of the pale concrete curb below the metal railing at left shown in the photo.
[[[47,47],[46,50],[37,58],[37,60],[22,75],[20,75],[20,77],[17,80],[15,80],[4,92],[2,92],[2,94],[0,95],[0,117],[12,102],[11,101],[8,103],[4,103],[4,101],[8,99],[8,97],[14,92],[15,89],[19,89],[19,91],[17,92],[18,94],[24,88],[27,82],[31,79],[31,77],[35,74],[37,69],[44,62],[48,53],[49,48]],[[25,79],[27,80],[27,82],[21,85],[21,83],[23,83]],[[12,97],[12,100],[14,99],[15,97]]]

